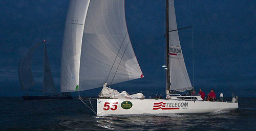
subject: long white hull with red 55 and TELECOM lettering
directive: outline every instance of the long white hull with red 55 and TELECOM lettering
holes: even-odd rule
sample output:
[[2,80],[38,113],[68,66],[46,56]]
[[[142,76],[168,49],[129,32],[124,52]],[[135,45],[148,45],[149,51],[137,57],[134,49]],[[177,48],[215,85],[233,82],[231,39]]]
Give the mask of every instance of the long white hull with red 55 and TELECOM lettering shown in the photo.
[[[131,104],[132,103],[132,104]],[[131,106],[132,105],[132,106]],[[97,99],[97,115],[210,113],[238,109],[235,102],[174,99]]]

